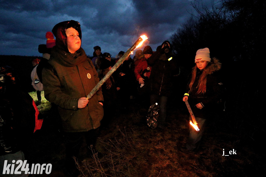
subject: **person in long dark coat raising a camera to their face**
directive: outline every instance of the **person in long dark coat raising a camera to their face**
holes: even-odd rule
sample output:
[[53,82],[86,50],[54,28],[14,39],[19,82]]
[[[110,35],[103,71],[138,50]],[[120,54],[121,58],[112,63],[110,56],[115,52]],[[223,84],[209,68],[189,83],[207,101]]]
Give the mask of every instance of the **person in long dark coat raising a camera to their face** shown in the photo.
[[167,100],[172,95],[173,77],[178,75],[180,70],[177,61],[172,54],[172,46],[169,41],[164,41],[157,47],[156,52],[147,59],[148,65],[152,66],[150,75],[150,104],[158,103],[159,127],[164,127],[167,116]]

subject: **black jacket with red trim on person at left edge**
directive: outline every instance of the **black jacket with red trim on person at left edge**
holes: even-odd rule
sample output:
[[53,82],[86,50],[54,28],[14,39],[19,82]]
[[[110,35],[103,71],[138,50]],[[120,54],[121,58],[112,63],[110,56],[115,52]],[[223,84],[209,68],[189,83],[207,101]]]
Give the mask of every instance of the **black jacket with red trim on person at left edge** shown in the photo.
[[8,88],[0,97],[0,155],[13,154],[33,135],[39,111],[31,96],[19,89]]

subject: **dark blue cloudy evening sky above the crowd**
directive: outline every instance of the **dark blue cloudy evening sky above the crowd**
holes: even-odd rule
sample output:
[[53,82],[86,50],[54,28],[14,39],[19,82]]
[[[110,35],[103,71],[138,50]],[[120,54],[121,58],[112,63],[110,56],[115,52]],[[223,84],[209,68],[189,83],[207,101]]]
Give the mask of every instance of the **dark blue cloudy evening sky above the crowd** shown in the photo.
[[[99,45],[112,57],[126,51],[145,34],[153,50],[169,40],[201,2],[211,8],[212,0],[0,0],[0,55],[41,56],[39,44],[55,24],[76,20],[81,24],[81,47],[92,56]],[[219,0],[214,0],[215,5]]]

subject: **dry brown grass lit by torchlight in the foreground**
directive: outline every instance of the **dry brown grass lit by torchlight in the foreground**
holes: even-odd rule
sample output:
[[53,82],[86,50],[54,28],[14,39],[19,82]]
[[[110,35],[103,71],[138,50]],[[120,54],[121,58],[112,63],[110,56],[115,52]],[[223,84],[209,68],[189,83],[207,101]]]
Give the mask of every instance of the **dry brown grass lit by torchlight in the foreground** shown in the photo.
[[[229,149],[228,142],[217,142],[211,135],[199,152],[180,151],[188,135],[186,116],[175,119],[172,115],[167,128],[149,129],[140,115],[133,109],[126,119],[111,125],[115,127],[111,134],[101,133],[98,147],[105,157],[80,163],[84,176],[219,176],[228,159],[241,166],[222,156],[220,146]],[[216,163],[221,168],[217,169]]]

